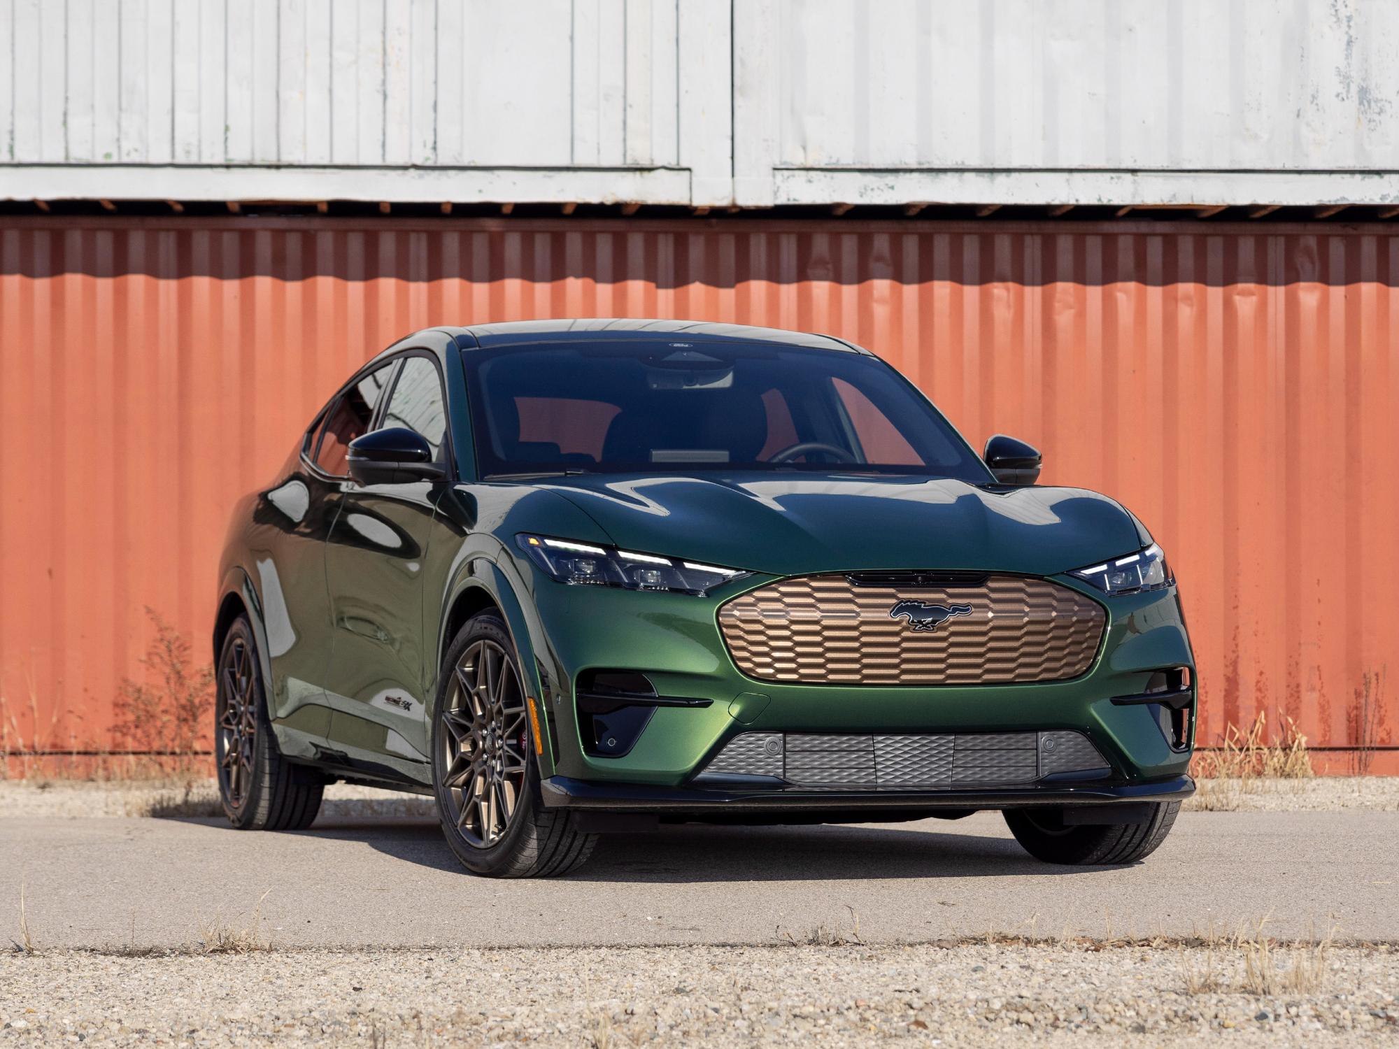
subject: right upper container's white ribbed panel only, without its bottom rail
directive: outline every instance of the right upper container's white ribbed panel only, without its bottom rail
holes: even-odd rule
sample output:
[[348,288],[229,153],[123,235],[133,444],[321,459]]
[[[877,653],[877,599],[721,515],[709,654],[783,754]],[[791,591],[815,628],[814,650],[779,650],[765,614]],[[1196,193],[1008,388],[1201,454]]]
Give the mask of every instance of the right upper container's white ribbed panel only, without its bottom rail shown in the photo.
[[1395,166],[1399,4],[765,0],[740,98],[772,162],[858,168]]

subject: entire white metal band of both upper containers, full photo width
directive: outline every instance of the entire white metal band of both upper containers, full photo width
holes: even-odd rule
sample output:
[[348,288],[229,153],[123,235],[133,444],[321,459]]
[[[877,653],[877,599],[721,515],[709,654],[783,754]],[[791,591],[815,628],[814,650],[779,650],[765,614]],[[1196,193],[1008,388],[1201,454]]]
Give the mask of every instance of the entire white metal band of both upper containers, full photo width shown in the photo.
[[1399,200],[1378,0],[0,0],[0,55],[8,197]]

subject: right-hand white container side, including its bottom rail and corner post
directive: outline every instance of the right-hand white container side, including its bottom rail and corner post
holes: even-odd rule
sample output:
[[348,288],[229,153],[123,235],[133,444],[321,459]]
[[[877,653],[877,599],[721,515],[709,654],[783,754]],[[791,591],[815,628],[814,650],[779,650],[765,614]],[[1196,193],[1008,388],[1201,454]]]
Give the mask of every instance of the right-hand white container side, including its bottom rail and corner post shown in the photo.
[[1399,201],[1396,3],[737,13],[744,204]]

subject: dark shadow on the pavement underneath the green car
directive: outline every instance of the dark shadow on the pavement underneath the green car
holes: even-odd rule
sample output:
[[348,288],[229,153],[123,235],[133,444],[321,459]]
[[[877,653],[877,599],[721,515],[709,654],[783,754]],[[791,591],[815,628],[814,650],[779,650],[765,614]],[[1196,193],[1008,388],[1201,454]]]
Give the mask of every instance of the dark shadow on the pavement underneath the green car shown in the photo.
[[[666,825],[655,834],[603,835],[568,881],[709,883],[827,881],[1072,874],[1112,867],[1062,867],[1032,859],[1013,838],[874,825]],[[436,870],[462,866],[434,822],[337,821],[306,836],[358,841]],[[1133,864],[1135,866],[1135,864]],[[464,873],[464,871],[463,871]]]

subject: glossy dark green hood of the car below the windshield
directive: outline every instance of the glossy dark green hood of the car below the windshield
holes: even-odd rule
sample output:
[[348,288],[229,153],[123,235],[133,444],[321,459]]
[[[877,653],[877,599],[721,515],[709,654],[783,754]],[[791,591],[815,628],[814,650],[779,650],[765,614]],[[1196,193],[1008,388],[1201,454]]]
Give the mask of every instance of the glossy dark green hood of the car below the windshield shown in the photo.
[[771,575],[1053,575],[1150,543],[1121,505],[1081,488],[811,473],[579,476],[539,487],[575,504],[623,548]]

